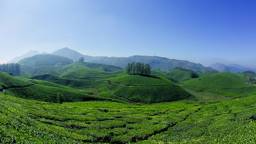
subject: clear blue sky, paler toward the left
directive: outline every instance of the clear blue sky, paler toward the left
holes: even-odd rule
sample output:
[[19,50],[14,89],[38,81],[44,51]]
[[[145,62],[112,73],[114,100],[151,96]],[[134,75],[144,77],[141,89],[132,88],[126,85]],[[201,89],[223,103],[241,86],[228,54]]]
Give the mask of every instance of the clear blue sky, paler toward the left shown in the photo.
[[0,0],[0,63],[64,47],[256,68],[256,0]]

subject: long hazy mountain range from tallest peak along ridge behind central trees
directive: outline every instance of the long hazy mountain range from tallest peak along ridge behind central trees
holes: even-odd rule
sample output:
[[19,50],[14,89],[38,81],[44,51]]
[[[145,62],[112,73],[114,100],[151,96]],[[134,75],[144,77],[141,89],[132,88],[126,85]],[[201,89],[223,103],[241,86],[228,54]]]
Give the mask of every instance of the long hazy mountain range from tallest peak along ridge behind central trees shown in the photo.
[[84,57],[85,62],[109,64],[119,66],[121,68],[125,68],[128,63],[132,63],[134,61],[149,63],[152,69],[160,69],[164,71],[169,71],[170,69],[173,69],[175,67],[182,67],[201,71],[205,71],[206,69],[213,70],[210,67],[205,67],[201,64],[192,63],[187,60],[168,59],[157,56],[133,55],[131,57],[93,57],[89,55],[82,55],[75,50],[69,48],[62,48],[51,54],[67,57],[73,59],[74,61],[78,61],[79,58]]

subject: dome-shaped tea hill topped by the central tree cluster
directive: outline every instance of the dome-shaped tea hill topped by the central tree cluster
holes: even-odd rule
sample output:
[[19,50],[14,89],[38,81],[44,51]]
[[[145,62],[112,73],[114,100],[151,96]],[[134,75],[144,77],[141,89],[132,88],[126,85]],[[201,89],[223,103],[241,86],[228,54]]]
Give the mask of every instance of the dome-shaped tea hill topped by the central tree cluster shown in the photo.
[[157,76],[122,75],[99,82],[113,95],[133,102],[170,102],[191,96],[174,82]]

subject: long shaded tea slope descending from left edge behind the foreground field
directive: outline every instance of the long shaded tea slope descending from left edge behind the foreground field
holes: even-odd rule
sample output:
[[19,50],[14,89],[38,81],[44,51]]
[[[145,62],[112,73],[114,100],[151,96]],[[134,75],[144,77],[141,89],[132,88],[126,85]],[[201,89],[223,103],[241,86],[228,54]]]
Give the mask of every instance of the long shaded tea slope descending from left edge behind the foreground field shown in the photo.
[[[57,87],[55,87],[57,86]],[[45,102],[58,102],[57,94],[61,93],[67,102],[79,102],[89,100],[110,100],[99,96],[88,95],[87,92],[78,92],[56,84],[44,81],[22,80],[7,73],[0,72],[0,91],[4,94]]]

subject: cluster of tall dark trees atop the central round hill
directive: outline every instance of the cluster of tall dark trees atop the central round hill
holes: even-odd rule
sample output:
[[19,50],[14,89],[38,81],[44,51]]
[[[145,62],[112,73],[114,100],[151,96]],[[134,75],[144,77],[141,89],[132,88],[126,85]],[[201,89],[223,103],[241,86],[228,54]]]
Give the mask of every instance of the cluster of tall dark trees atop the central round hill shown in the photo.
[[140,74],[140,75],[150,75],[150,65],[147,63],[128,63],[126,66],[126,72],[128,74]]

